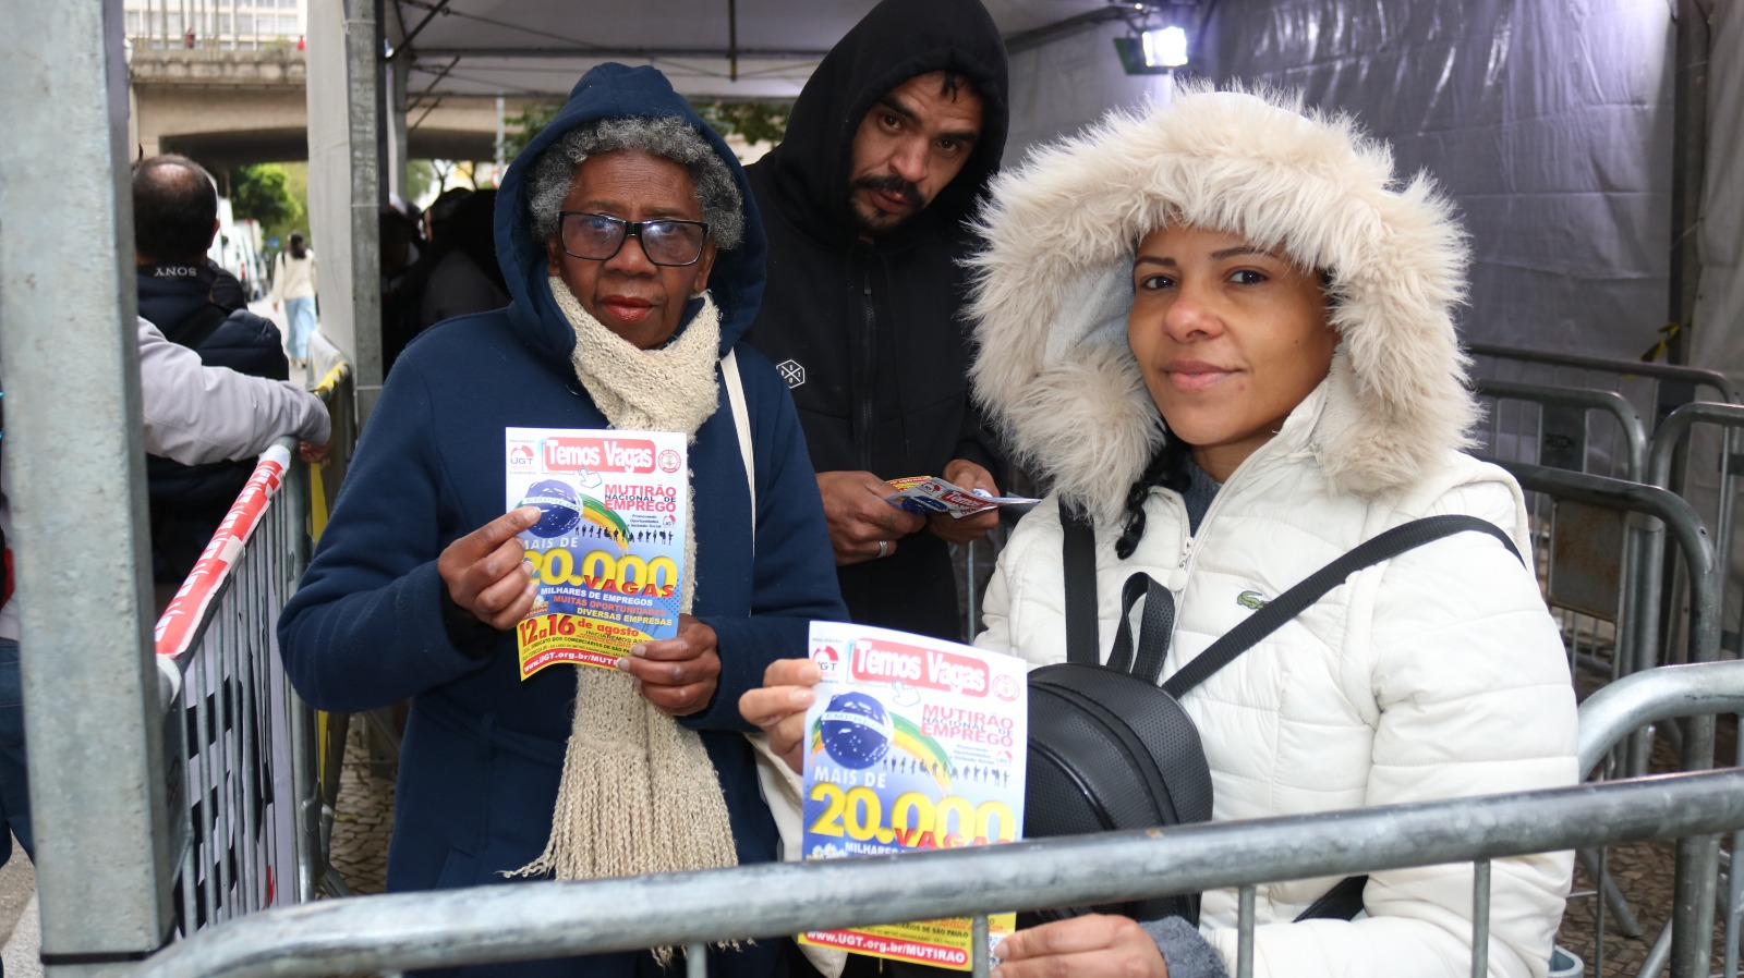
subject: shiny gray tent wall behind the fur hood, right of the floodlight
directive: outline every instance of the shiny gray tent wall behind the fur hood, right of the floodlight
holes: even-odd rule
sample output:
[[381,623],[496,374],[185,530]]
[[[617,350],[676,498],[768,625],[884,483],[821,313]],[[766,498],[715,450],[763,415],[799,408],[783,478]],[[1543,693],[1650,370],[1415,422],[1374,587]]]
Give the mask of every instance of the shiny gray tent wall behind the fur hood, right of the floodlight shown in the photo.
[[1639,356],[1666,323],[1666,0],[1224,0],[1219,78],[1299,87],[1427,169],[1472,235],[1472,342]]

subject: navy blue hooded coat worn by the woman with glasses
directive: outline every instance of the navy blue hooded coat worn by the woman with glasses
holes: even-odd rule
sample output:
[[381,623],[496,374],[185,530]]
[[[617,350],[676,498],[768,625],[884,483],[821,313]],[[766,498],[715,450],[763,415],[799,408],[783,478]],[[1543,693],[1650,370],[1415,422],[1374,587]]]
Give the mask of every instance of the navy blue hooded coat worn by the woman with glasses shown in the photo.
[[[497,199],[497,255],[513,302],[426,331],[394,366],[364,429],[333,520],[302,589],[279,621],[286,671],[323,710],[358,711],[412,697],[399,764],[391,891],[504,882],[551,832],[576,699],[572,669],[520,682],[514,640],[483,626],[445,628],[453,608],[436,558],[504,513],[502,429],[609,427],[576,380],[576,335],[551,298],[546,246],[525,204],[528,171],[563,132],[605,117],[678,115],[739,185],[745,241],[719,253],[710,288],[720,352],[738,350],[755,446],[757,514],[722,387],[691,445],[696,518],[692,614],[719,636],[720,685],[682,718],[701,732],[732,819],[741,863],[769,861],[776,830],[759,795],[738,701],[778,657],[806,654],[811,619],[842,619],[823,507],[787,387],[739,335],[757,316],[764,232],[731,150],[654,68],[588,71],[562,113],[516,157]],[[699,300],[685,310],[685,324]],[[680,326],[682,328],[682,326]],[[462,612],[464,614],[464,612]],[[478,622],[473,622],[474,626]],[[626,680],[628,682],[628,680]],[[724,952],[726,973],[773,975],[780,941]],[[638,964],[640,962],[640,964]],[[628,975],[647,955],[610,955],[588,975]],[[560,975],[560,962],[469,975]]]

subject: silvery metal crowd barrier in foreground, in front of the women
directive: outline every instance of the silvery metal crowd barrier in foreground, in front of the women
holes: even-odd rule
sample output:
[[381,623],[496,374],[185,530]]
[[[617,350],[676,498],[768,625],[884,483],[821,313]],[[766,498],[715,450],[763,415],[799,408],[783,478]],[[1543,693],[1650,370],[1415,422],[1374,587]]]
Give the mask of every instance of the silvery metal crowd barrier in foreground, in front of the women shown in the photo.
[[[1713,710],[1744,710],[1744,662],[1636,675],[1582,708],[1580,764],[1599,764],[1641,723]],[[1727,769],[980,849],[321,901],[195,934],[136,975],[398,975],[684,947],[689,975],[705,976],[703,948],[713,941],[1238,887],[1236,976],[1247,978],[1259,884],[1461,861],[1475,870],[1472,973],[1484,975],[1491,859],[1737,828],[1744,828],[1744,769]],[[1679,882],[1700,877],[1695,870],[1679,863]],[[1700,905],[1674,907],[1674,978],[1707,973],[1711,893],[1706,919]],[[978,950],[975,973],[985,969]]]

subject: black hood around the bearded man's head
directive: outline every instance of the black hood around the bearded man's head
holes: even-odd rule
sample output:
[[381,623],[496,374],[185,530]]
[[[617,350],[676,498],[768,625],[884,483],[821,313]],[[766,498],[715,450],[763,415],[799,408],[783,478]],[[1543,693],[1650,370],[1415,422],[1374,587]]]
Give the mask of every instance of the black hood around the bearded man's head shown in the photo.
[[781,213],[821,242],[849,244],[858,234],[848,181],[860,120],[886,92],[930,71],[970,80],[982,132],[956,180],[888,241],[957,234],[999,169],[1008,119],[1005,42],[980,0],[884,0],[830,49],[794,103],[787,138],[759,160],[773,171]]

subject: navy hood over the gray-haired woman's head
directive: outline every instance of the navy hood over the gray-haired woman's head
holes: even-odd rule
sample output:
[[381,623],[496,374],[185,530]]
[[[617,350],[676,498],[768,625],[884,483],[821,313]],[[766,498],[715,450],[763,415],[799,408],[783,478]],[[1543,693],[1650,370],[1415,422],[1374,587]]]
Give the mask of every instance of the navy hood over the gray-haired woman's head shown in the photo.
[[[565,132],[596,122],[600,119],[663,119],[678,117],[708,139],[715,155],[727,164],[727,173],[739,188],[745,207],[745,241],[738,248],[722,249],[715,256],[715,267],[708,274],[708,295],[720,309],[720,352],[726,354],[739,340],[752,321],[757,319],[757,307],[764,291],[764,258],[769,244],[764,237],[762,218],[757,214],[757,202],[752,197],[750,183],[745,180],[745,167],[727,148],[727,143],[696,112],[691,103],[671,89],[671,82],[659,70],[624,65],[600,65],[576,82],[569,92],[563,110],[551,120],[527,148],[509,164],[509,173],[502,178],[497,192],[495,237],[497,263],[509,293],[509,323],[541,357],[553,357],[569,363],[576,349],[576,333],[563,319],[563,312],[551,298],[548,281],[546,242],[534,237],[532,220],[527,213],[527,180],[539,155],[546,146],[556,143]],[[691,317],[701,309],[701,300],[692,300],[685,309],[684,329]]]

